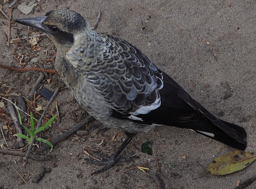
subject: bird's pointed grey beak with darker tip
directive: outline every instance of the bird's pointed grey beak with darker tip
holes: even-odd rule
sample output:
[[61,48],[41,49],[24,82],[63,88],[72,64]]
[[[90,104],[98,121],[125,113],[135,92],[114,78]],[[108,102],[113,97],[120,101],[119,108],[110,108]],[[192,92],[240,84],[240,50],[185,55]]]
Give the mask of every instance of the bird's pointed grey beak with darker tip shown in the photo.
[[29,26],[31,28],[36,28],[39,29],[42,32],[45,32],[46,28],[43,25],[43,21],[46,19],[47,16],[42,16],[42,17],[35,17],[35,18],[24,18],[24,19],[17,19],[15,22],[19,24],[23,24],[26,26]]

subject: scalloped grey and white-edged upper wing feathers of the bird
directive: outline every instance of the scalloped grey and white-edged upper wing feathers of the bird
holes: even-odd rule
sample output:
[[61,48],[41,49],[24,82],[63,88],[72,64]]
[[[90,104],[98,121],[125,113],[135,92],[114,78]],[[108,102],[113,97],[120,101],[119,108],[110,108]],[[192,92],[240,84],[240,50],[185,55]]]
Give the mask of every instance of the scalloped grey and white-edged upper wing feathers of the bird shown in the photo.
[[162,71],[130,43],[101,36],[105,49],[86,78],[104,95],[108,106],[132,120],[159,107]]

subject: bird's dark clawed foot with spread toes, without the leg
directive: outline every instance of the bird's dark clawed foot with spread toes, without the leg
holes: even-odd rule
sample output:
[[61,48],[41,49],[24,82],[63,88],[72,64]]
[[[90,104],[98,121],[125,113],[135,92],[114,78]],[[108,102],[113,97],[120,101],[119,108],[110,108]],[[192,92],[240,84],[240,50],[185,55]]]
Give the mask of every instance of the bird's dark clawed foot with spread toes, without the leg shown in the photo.
[[100,154],[100,153],[97,153],[97,154],[103,159],[102,161],[94,161],[94,160],[91,160],[89,158],[84,159],[87,162],[89,162],[91,164],[94,164],[94,165],[105,165],[105,167],[103,167],[101,169],[98,169],[95,172],[93,172],[92,175],[102,173],[102,172],[108,170],[109,168],[111,168],[115,164],[122,165],[121,162],[130,162],[135,158],[140,158],[137,155],[133,155],[133,156],[130,156],[130,157],[123,157],[123,158],[118,158],[118,157],[116,158],[115,155],[113,155],[112,157],[108,157],[108,156],[105,156],[105,155]]

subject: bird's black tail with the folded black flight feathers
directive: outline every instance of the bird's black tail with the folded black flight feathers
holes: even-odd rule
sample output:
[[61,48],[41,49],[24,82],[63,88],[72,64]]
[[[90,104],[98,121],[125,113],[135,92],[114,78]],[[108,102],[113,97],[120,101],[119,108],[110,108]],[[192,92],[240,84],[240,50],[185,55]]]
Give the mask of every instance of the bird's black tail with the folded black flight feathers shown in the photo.
[[247,135],[242,127],[216,118],[165,73],[163,80],[164,87],[158,91],[161,105],[137,117],[148,123],[191,129],[228,146],[245,150]]

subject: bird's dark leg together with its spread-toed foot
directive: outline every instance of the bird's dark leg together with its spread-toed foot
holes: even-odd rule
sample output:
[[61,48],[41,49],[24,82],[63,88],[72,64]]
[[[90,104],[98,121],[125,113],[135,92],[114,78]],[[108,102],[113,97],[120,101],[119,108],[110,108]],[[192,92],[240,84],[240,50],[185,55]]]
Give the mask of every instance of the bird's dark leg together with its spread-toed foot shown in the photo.
[[99,173],[102,173],[102,172],[108,170],[113,165],[115,165],[116,162],[131,161],[134,158],[139,158],[138,156],[118,158],[119,155],[123,152],[124,148],[129,144],[129,142],[132,140],[132,138],[135,137],[135,135],[137,133],[125,132],[125,134],[126,134],[126,138],[124,139],[123,143],[117,149],[116,153],[112,157],[107,157],[107,156],[104,156],[103,154],[98,153],[102,157],[102,159],[104,159],[103,161],[93,161],[93,160],[90,160],[88,158],[84,159],[84,160],[88,161],[89,163],[92,163],[92,164],[95,164],[95,165],[105,165],[105,167],[103,167],[102,169],[99,169],[99,170],[93,172],[92,175],[93,174],[99,174]]

